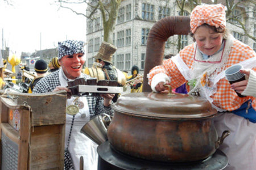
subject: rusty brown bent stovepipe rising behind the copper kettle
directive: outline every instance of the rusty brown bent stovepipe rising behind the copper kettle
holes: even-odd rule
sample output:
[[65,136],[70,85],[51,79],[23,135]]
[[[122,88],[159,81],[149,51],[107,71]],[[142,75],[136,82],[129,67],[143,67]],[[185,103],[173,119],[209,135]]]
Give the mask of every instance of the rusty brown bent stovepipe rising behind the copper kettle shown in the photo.
[[[189,21],[189,16],[168,16],[154,24],[148,33],[144,75],[153,67],[162,65],[165,42],[170,36],[188,35]],[[147,76],[144,76],[142,91],[152,91]]]

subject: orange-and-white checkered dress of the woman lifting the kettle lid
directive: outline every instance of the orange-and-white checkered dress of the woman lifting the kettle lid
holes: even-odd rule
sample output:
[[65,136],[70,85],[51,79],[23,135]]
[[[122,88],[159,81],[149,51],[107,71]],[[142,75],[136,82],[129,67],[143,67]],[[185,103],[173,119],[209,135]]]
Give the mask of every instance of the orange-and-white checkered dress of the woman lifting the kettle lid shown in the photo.
[[[230,46],[230,48],[229,56],[224,56],[224,58],[228,57],[228,59],[224,66],[225,68],[223,69],[226,69],[236,63],[245,61],[246,59],[256,57],[256,53],[253,49],[236,39],[234,39],[233,45]],[[180,51],[179,55],[189,69],[193,70],[192,65],[194,62],[193,57],[195,55],[195,43],[186,46]],[[252,67],[252,69],[256,71],[256,65],[255,67]],[[163,65],[154,67],[148,74],[148,83],[151,84],[153,76],[159,73],[164,73],[169,76],[171,79],[170,85],[172,88],[177,88],[186,82],[186,79],[180,73],[178,67],[175,65],[172,59],[164,60]],[[189,91],[188,85],[187,90]],[[238,97],[236,92],[230,88],[230,83],[228,80],[226,80],[226,78],[221,78],[217,82],[217,92],[210,97],[213,99],[212,104],[227,111],[234,111],[240,108],[240,106],[249,99],[253,101],[253,108],[256,109],[255,97]]]

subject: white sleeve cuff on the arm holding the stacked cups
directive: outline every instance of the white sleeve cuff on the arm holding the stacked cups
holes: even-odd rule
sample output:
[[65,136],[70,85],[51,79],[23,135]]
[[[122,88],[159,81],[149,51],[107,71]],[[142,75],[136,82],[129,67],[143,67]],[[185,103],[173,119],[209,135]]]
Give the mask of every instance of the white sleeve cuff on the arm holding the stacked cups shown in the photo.
[[242,92],[244,96],[253,96],[256,97],[256,72],[250,69],[250,76],[248,79],[247,86]]

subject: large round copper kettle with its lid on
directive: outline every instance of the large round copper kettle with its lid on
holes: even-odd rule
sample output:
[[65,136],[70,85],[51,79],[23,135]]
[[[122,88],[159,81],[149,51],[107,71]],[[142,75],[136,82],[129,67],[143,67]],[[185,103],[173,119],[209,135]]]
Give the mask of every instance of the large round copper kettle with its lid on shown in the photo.
[[213,125],[217,111],[190,95],[142,92],[113,104],[108,128],[111,146],[124,154],[161,162],[193,162],[214,154],[224,138]]

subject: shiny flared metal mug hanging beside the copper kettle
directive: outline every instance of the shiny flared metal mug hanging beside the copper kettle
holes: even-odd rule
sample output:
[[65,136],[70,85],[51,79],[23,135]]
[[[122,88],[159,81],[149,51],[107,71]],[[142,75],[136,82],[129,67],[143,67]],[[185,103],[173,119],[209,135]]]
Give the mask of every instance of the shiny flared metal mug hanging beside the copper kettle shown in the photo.
[[87,122],[81,129],[81,133],[90,138],[93,142],[101,145],[101,143],[108,140],[108,122],[112,121],[112,118],[108,114],[100,114]]

